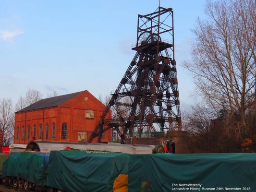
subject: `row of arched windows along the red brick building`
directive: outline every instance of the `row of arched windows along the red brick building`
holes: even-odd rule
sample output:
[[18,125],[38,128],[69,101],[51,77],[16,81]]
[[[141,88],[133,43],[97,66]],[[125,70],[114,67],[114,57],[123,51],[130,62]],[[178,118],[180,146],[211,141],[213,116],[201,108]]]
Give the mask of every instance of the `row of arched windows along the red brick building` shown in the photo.
[[[16,140],[19,140],[19,127],[16,128]],[[30,126],[27,126],[27,136],[26,139],[30,140]],[[61,139],[67,139],[67,132],[68,131],[68,125],[67,123],[63,123],[61,127]],[[36,133],[37,133],[37,127],[36,125],[33,126],[33,132],[32,132],[32,139],[36,139]],[[38,139],[42,139],[43,135],[43,127],[42,124],[39,125],[39,134]],[[24,140],[25,138],[25,127],[22,127],[21,130],[21,140]],[[46,123],[45,125],[45,139],[49,139],[49,124]],[[55,123],[52,123],[52,129],[51,129],[51,139],[55,139]]]

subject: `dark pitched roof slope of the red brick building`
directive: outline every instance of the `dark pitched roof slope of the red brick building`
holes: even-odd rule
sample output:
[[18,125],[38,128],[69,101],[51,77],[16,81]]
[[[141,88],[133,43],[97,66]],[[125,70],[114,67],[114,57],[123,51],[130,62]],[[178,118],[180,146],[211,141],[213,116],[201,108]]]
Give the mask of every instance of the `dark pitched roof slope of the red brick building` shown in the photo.
[[46,98],[46,99],[41,99],[40,101],[37,101],[36,103],[34,103],[30,106],[27,106],[26,108],[23,108],[23,109],[17,111],[16,113],[40,109],[40,108],[55,107],[55,106],[58,106],[64,102],[70,100],[71,98],[79,95],[82,92],[84,92],[84,91],[71,93],[71,94],[67,94],[67,95],[63,95],[63,96],[54,96],[54,97],[50,97],[50,98]]

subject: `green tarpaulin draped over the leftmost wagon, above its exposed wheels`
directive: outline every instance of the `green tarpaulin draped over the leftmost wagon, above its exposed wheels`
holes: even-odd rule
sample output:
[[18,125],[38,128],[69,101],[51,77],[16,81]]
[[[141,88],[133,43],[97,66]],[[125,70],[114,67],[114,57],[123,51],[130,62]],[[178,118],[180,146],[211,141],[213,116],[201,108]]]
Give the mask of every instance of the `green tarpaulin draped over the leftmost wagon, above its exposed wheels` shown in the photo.
[[2,177],[14,176],[37,186],[46,184],[46,160],[37,153],[12,153],[3,163]]

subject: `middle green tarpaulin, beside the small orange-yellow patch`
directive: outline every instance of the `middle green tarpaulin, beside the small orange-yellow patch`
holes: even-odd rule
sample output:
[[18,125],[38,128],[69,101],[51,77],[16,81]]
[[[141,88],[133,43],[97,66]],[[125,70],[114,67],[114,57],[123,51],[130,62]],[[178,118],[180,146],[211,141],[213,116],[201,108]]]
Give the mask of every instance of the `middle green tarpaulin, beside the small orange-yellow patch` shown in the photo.
[[65,192],[113,192],[114,180],[128,170],[128,154],[51,151],[47,185]]

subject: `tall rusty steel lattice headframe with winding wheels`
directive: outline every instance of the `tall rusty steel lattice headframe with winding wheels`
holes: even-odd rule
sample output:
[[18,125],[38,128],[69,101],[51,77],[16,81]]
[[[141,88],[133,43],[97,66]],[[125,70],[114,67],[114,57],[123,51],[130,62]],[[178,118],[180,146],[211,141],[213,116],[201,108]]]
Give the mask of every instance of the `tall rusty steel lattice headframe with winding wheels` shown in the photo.
[[[138,15],[136,54],[104,110],[89,142],[115,129],[121,143],[134,133],[181,130],[174,59],[172,8]],[[112,110],[112,119],[106,119]]]

